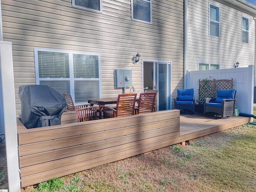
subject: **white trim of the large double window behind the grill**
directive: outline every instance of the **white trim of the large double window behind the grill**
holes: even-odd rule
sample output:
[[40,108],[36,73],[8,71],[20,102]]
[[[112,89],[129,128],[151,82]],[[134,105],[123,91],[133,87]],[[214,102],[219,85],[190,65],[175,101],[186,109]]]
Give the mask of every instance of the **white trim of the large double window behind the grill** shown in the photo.
[[[69,58],[69,70],[70,70],[70,77],[65,78],[66,80],[70,81],[70,95],[74,100],[75,92],[74,92],[74,81],[79,80],[74,78],[74,66],[73,66],[73,54],[84,54],[84,55],[97,55],[99,59],[99,78],[90,78],[89,80],[99,80],[99,92],[100,98],[102,98],[102,82],[101,82],[101,57],[100,54],[90,53],[90,52],[76,52],[72,50],[61,50],[61,49],[51,49],[51,48],[34,48],[34,58],[35,58],[35,71],[36,71],[36,85],[40,84],[40,80],[63,80],[64,78],[39,78],[39,66],[38,66],[38,51],[45,51],[45,52],[60,52],[60,53],[68,53]],[[82,79],[81,79],[82,80]],[[78,104],[78,103],[77,103]]]

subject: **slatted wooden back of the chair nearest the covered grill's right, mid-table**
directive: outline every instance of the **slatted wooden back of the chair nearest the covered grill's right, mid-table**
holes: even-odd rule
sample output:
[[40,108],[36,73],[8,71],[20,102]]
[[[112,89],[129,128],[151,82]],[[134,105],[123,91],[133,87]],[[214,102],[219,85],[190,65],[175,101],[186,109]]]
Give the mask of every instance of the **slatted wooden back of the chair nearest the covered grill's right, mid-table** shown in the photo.
[[135,102],[136,102],[136,93],[125,93],[119,94],[116,104],[116,113],[118,116],[124,115],[135,115]]

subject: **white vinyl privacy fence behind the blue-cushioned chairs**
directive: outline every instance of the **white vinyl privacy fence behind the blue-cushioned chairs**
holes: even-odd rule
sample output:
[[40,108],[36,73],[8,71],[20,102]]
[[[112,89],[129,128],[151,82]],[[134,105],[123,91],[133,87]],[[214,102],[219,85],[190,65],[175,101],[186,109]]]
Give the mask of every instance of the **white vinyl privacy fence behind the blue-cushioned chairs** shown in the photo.
[[240,113],[253,114],[254,66],[244,68],[188,71],[187,88],[194,88],[194,96],[198,99],[198,80],[220,80],[233,78],[233,88],[236,90],[236,106]]

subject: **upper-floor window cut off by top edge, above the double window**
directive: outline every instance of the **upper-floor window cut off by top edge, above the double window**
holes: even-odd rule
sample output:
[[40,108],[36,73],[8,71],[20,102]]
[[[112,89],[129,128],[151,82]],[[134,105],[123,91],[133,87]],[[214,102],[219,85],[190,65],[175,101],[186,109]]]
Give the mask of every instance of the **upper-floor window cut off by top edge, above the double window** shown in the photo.
[[72,6],[102,12],[102,0],[72,0]]

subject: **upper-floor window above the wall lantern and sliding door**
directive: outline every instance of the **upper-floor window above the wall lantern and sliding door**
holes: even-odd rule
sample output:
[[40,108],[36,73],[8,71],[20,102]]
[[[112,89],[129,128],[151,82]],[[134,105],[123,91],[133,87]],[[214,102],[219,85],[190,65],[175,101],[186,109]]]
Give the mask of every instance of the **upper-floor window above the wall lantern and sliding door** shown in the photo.
[[152,0],[132,0],[132,20],[152,23]]

